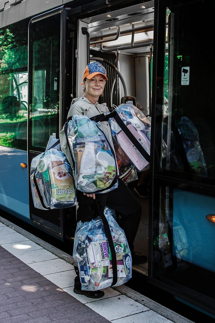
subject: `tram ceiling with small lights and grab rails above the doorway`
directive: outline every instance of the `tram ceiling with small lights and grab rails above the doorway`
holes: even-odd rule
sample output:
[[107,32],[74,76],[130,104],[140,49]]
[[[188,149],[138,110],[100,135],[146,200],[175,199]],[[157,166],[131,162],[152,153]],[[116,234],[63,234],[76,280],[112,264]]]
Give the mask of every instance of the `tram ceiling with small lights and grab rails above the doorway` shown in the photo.
[[[153,5],[153,1],[151,1]],[[100,46],[102,52],[126,50],[149,52],[153,42],[154,11],[140,5],[84,19],[88,23],[90,45]],[[137,11],[138,10],[138,11]],[[142,49],[141,49],[142,48]],[[134,52],[135,52],[134,51]]]

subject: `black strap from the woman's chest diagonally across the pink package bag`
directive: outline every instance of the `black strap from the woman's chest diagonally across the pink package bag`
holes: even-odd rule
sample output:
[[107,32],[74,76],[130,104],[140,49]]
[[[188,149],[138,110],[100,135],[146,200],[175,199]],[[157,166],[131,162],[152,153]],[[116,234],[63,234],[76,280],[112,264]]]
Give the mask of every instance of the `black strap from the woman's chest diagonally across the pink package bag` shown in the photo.
[[150,162],[150,155],[148,154],[148,152],[145,151],[145,149],[141,146],[139,141],[134,137],[134,135],[131,133],[131,131],[126,127],[126,125],[124,124],[124,122],[122,121],[122,119],[120,118],[118,113],[116,112],[116,110],[114,110],[111,113],[106,114],[106,115],[98,114],[98,115],[90,118],[90,120],[93,120],[95,122],[99,122],[99,121],[108,121],[110,118],[114,118],[116,120],[116,122],[118,123],[118,125],[120,126],[122,131],[126,134],[128,139],[131,140],[131,142],[134,144],[134,146],[137,148],[137,150],[145,158],[145,160]]

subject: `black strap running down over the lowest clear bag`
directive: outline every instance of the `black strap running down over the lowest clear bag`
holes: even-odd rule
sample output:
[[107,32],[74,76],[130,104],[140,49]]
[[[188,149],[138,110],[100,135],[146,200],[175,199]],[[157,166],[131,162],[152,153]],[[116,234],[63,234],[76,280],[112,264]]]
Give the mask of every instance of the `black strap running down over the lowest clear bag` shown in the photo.
[[108,239],[108,244],[111,249],[111,256],[112,256],[112,269],[113,269],[113,281],[111,286],[114,286],[117,283],[118,277],[117,277],[117,262],[116,262],[116,251],[114,249],[114,244],[113,244],[113,239],[112,239],[112,234],[111,234],[111,229],[108,223],[108,220],[106,219],[106,216],[104,215],[104,208],[101,205],[100,201],[96,202],[98,210],[99,210],[99,215],[102,219],[103,225],[104,225],[104,230],[105,234]]

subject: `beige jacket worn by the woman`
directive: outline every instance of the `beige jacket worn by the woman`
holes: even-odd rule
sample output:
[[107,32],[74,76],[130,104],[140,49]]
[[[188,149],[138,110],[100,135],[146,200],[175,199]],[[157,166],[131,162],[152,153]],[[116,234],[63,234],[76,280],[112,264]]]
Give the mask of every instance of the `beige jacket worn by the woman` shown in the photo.
[[[87,116],[88,118],[92,118],[98,114],[107,114],[110,111],[107,108],[106,103],[99,104],[96,102],[93,104],[88,100],[87,98],[75,98],[72,100],[69,113],[67,118],[72,117],[73,115],[84,115]],[[110,144],[113,147],[113,141],[112,141],[112,134],[111,134],[111,128],[106,121],[101,122],[102,130],[104,131],[105,135],[107,136]],[[67,146],[67,141],[66,141],[66,136],[64,134],[64,129],[62,129],[59,133],[59,138],[60,138],[60,143],[61,143],[61,150],[64,152],[66,155],[68,161],[70,162],[71,167],[73,168],[73,161],[70,155],[69,148]]]

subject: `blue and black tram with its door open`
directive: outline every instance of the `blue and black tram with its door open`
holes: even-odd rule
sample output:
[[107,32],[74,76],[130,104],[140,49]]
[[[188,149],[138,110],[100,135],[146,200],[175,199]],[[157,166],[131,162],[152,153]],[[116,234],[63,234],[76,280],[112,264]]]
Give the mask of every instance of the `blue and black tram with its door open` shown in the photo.
[[[143,211],[135,240],[148,263],[133,269],[213,318],[214,7],[207,0],[0,0],[0,208],[73,239],[76,207],[35,209],[30,165],[82,96],[87,63],[100,61],[109,78],[101,103],[135,102],[151,120],[150,193],[136,195]],[[140,177],[128,183],[132,191]]]

